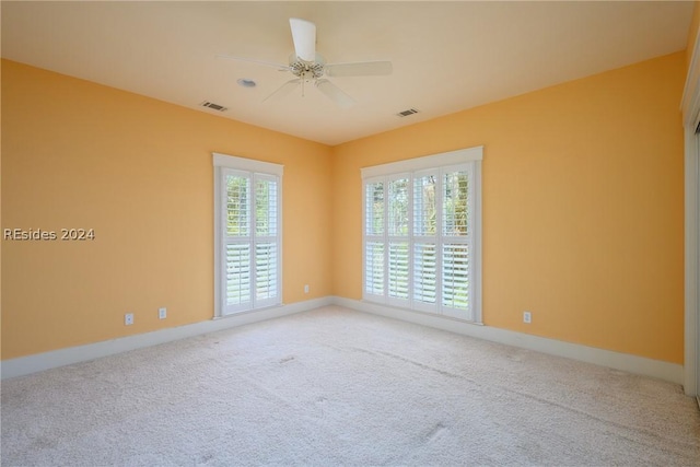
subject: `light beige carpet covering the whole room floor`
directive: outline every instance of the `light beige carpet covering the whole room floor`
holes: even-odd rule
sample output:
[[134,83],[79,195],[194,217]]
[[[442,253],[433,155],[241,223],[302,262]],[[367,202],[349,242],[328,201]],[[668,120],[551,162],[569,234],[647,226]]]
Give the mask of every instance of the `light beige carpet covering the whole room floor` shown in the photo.
[[2,383],[2,465],[699,466],[679,386],[325,307]]

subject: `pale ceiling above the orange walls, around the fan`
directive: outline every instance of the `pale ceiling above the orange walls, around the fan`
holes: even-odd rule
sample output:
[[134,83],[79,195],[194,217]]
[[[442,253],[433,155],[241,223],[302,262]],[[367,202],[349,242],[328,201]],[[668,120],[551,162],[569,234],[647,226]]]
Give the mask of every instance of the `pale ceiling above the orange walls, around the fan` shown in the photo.
[[[11,2],[2,57],[308,140],[338,144],[686,47],[692,2]],[[392,60],[387,77],[262,100],[291,74],[289,17],[327,62]],[[240,78],[257,82],[236,85]],[[199,107],[202,101],[225,113]],[[415,107],[419,114],[399,118]],[[37,110],[40,112],[40,110]]]

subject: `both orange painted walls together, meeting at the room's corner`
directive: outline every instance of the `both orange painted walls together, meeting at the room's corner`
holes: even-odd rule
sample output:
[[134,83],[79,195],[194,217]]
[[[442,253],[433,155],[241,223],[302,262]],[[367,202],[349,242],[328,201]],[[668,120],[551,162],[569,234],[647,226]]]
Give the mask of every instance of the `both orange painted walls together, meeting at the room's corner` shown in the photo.
[[485,323],[680,363],[685,68],[677,52],[328,148],[3,60],[2,227],[97,238],[2,242],[2,358],[210,319],[211,152],[284,165],[293,303],[361,297],[361,167],[483,144]]

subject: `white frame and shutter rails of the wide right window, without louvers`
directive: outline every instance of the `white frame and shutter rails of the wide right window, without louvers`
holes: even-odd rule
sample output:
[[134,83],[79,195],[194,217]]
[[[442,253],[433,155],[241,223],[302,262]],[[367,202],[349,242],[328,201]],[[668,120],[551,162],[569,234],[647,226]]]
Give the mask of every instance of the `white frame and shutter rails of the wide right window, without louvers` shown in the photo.
[[[389,164],[375,165],[371,167],[364,167],[361,170],[362,175],[362,299],[364,301],[382,303],[389,306],[396,306],[400,308],[412,310],[417,312],[432,313],[443,316],[450,316],[456,319],[462,319],[470,323],[482,323],[482,310],[481,310],[481,161],[483,159],[483,147],[475,147],[468,149],[462,149],[452,152],[445,152],[441,154],[428,155],[423,157],[410,159],[406,161],[394,162]],[[415,300],[412,290],[412,280],[409,279],[409,296],[408,300],[390,297],[388,287],[388,249],[389,243],[396,241],[394,236],[389,235],[388,229],[388,184],[392,180],[400,178],[409,178],[409,278],[413,276],[413,245],[420,237],[415,235],[413,232],[413,178],[421,174],[430,173],[439,176],[442,179],[444,173],[454,172],[456,170],[466,170],[470,176],[469,179],[469,194],[468,202],[470,209],[470,232],[469,238],[448,238],[444,235],[438,235],[435,238],[438,252],[436,260],[438,270],[441,270],[440,261],[442,261],[443,246],[445,244],[452,244],[452,241],[456,243],[468,243],[470,246],[470,310],[467,312],[456,311],[443,306],[442,300],[436,300],[434,305],[425,304]],[[374,183],[384,184],[384,229],[381,234],[368,235],[368,212],[366,212],[366,187]],[[441,182],[442,183],[442,182]],[[441,183],[439,186],[442,186]],[[440,195],[442,197],[442,195]],[[438,229],[442,229],[442,203],[438,206]],[[438,238],[439,237],[439,238]],[[366,243],[368,241],[382,241],[384,243],[384,287],[382,294],[372,294],[368,292],[366,288]],[[440,276],[440,275],[439,275]],[[438,296],[442,295],[442,282],[439,277],[435,288]]]

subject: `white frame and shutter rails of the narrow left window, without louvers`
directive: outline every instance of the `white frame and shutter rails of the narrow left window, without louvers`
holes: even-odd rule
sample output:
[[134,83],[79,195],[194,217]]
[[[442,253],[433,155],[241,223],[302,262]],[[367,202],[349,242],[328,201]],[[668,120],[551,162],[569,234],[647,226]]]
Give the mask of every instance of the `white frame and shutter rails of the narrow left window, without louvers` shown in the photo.
[[[242,312],[262,310],[270,306],[282,304],[282,175],[284,166],[270,162],[255,161],[252,159],[237,157],[228,154],[212,153],[213,159],[213,176],[214,176],[214,318],[232,316]],[[277,294],[273,299],[257,301],[255,299],[255,282],[252,283],[252,300],[246,306],[226,306],[225,304],[225,250],[226,242],[223,234],[223,220],[226,217],[224,195],[224,177],[229,174],[241,174],[250,177],[252,192],[255,192],[256,179],[268,179],[277,182],[278,203],[277,219],[278,233],[276,235],[277,243]],[[252,209],[255,211],[255,209]],[[255,247],[255,220],[253,219],[252,229],[252,247]],[[264,237],[266,242],[270,242],[271,237]]]

